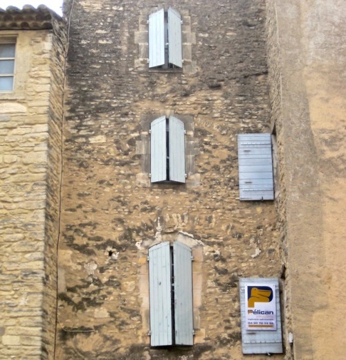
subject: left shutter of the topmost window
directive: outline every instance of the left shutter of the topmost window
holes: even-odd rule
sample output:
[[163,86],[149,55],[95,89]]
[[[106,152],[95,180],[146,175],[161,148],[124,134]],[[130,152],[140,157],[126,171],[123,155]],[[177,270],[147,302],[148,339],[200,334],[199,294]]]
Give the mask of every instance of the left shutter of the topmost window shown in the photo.
[[165,10],[149,15],[149,68],[165,64]]

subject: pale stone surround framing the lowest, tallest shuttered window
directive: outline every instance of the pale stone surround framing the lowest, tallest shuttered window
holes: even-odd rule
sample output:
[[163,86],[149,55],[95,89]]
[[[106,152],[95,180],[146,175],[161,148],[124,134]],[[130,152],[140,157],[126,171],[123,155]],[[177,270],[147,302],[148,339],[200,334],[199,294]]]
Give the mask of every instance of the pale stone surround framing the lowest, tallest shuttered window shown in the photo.
[[185,233],[183,231],[176,231],[166,233],[161,228],[160,219],[157,219],[155,237],[152,239],[146,239],[136,244],[138,253],[140,256],[139,264],[139,288],[141,304],[141,317],[143,324],[143,332],[141,336],[141,342],[149,344],[149,264],[147,262],[148,252],[151,246],[160,244],[161,242],[173,242],[179,241],[189,246],[192,250],[192,289],[193,289],[193,326],[194,326],[194,344],[203,343],[205,338],[205,329],[201,328],[200,323],[200,310],[202,306],[202,285],[203,285],[203,242],[196,240],[193,235]]

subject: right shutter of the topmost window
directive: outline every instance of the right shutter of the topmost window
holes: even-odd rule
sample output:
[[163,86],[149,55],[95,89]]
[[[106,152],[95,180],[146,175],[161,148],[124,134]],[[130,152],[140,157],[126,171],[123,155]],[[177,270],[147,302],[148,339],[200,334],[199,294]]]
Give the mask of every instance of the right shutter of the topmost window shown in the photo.
[[175,66],[183,66],[181,16],[173,8],[168,8],[168,62]]

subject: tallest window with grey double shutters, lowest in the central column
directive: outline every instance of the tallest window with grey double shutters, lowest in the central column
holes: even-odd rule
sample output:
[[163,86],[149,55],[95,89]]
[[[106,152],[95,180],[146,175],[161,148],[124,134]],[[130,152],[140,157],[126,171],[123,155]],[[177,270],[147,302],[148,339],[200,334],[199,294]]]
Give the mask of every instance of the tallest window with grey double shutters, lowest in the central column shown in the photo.
[[149,248],[150,343],[193,345],[192,252],[181,242]]

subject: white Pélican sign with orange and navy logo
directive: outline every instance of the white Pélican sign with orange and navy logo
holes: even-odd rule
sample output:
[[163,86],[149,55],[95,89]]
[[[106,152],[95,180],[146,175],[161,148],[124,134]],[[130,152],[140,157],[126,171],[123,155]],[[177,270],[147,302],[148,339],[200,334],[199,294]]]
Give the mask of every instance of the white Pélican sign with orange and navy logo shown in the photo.
[[246,330],[276,330],[275,285],[245,285]]

